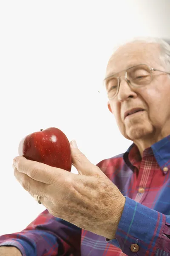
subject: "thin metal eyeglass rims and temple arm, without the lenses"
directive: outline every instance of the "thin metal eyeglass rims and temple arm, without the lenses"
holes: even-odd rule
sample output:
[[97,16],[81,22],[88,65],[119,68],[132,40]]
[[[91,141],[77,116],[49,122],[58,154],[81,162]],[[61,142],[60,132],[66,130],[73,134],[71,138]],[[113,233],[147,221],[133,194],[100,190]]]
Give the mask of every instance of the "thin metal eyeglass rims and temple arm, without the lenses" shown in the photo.
[[[156,68],[150,67],[150,66],[147,65],[147,64],[137,64],[137,65],[135,65],[135,66],[128,67],[127,69],[120,71],[120,72],[124,72],[124,71],[125,71],[125,80],[127,81],[127,84],[128,84],[128,85],[130,85],[130,86],[132,86],[132,87],[137,87],[137,88],[143,87],[143,85],[142,85],[142,86],[135,86],[135,85],[131,84],[130,81],[127,79],[127,71],[128,71],[129,69],[133,68],[133,67],[137,67],[137,66],[141,66],[141,65],[147,66],[150,71],[159,71],[159,72],[162,72],[162,73],[164,73],[164,74],[170,75],[169,72],[166,72],[166,71],[163,71],[163,70],[158,70],[158,69],[156,69]],[[120,73],[120,72],[118,72],[118,73]],[[113,75],[111,75],[111,76],[106,77],[106,78],[103,80],[103,85],[104,85],[106,79],[109,79],[109,78],[111,78],[111,77],[115,77],[115,75],[118,74],[118,73],[115,73],[115,74],[113,74]],[[152,73],[151,73],[151,76],[152,76]],[[114,98],[117,96],[118,92],[119,92],[119,87],[120,87],[120,79],[119,79],[119,78],[120,78],[120,76],[117,76],[116,78],[117,78],[117,80],[118,80],[118,82],[119,82],[119,83],[118,83],[118,89],[117,89],[117,92],[116,92],[115,96],[113,96],[111,99],[114,99]],[[152,76],[152,80],[153,80],[153,76]],[[152,81],[152,80],[151,80],[151,81]],[[150,82],[151,82],[151,81],[150,81]],[[149,83],[149,84],[150,84],[150,83]],[[103,86],[102,86],[102,87],[103,87]],[[106,88],[105,88],[105,90],[106,90]],[[98,92],[100,92],[100,91],[98,91]],[[108,93],[107,93],[107,94],[108,94]],[[108,98],[108,99],[109,99],[109,98]],[[109,100],[111,100],[111,99],[109,99]]]

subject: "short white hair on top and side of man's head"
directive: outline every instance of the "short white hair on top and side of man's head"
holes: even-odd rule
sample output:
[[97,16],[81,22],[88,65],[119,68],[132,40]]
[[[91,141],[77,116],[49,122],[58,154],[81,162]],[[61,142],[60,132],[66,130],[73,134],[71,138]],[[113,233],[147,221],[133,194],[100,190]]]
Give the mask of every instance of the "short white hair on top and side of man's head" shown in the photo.
[[[127,43],[135,43],[135,42],[144,42],[147,44],[158,44],[160,47],[160,60],[163,62],[163,66],[167,72],[170,72],[170,39],[163,38],[151,38],[151,37],[138,37],[132,38],[129,41],[124,42]],[[123,45],[121,44],[121,45]],[[116,49],[120,47],[120,44]]]

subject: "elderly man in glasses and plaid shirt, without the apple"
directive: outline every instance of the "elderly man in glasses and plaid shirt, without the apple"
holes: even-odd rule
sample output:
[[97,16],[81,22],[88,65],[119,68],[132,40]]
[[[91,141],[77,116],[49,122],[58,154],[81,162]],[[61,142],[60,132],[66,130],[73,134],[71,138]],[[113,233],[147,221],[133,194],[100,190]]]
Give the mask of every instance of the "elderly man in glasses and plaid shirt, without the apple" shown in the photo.
[[104,84],[133,144],[94,165],[71,142],[79,175],[15,157],[15,177],[46,210],[0,237],[1,256],[170,256],[170,46],[147,38],[120,46]]

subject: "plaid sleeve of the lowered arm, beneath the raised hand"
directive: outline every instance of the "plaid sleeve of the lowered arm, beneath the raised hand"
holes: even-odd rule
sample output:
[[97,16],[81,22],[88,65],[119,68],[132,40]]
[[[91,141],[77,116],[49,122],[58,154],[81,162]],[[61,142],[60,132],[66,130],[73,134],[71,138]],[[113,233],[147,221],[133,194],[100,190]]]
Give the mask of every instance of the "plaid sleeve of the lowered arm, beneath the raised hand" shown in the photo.
[[81,229],[67,221],[42,212],[18,233],[0,236],[0,246],[17,247],[23,256],[79,255]]

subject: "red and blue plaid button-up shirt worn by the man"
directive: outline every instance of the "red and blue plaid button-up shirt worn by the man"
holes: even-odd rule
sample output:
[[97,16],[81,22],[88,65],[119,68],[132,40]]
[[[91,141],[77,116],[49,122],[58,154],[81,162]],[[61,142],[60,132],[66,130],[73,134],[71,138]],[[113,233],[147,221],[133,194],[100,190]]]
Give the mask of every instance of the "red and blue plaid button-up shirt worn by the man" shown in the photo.
[[[48,210],[25,230],[0,236],[23,256],[170,256],[170,136],[97,164],[125,196],[116,239],[82,230]],[[103,216],[104,218],[104,216]]]

